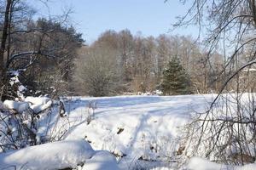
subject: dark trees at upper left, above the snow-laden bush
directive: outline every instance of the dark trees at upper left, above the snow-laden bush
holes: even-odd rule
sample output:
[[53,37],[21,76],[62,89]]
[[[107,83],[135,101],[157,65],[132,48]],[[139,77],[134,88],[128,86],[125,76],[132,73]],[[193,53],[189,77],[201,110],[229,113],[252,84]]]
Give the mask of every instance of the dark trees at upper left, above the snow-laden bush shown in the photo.
[[[72,63],[70,60],[75,56],[75,48],[82,43],[81,35],[67,25],[70,11],[61,17],[39,19],[35,22],[32,20],[35,12],[26,1],[2,0],[0,4],[1,12],[4,11],[0,16],[3,20],[3,24],[0,23],[1,99],[18,97],[17,87],[9,84],[9,80],[14,77],[14,71],[23,74],[21,82],[28,85],[35,81],[29,72],[33,70],[36,73],[38,63],[41,63],[39,68],[42,69],[43,63],[47,63],[46,60],[51,60],[48,64],[55,64],[60,76],[62,75],[61,79],[67,80],[67,72],[70,70],[68,63]],[[36,64],[37,67],[34,67]]]

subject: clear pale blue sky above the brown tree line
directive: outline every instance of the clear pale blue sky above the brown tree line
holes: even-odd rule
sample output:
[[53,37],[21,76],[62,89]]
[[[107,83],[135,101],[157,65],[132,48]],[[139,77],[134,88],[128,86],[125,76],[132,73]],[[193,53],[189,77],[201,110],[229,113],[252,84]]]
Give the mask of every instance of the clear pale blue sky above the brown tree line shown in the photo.
[[185,14],[187,7],[179,0],[49,0],[49,10],[42,3],[33,1],[39,15],[61,14],[72,8],[71,20],[83,33],[86,42],[93,42],[106,30],[129,29],[132,34],[157,37],[160,34],[192,35],[196,29],[177,29],[170,32],[176,16]]

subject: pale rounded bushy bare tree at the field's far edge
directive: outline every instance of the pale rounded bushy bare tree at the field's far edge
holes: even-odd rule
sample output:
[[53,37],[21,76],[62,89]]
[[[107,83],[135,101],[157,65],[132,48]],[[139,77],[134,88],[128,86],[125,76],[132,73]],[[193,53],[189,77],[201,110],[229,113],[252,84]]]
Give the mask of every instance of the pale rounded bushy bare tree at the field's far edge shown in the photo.
[[117,93],[118,53],[113,48],[95,45],[79,52],[73,80],[81,94],[105,96]]

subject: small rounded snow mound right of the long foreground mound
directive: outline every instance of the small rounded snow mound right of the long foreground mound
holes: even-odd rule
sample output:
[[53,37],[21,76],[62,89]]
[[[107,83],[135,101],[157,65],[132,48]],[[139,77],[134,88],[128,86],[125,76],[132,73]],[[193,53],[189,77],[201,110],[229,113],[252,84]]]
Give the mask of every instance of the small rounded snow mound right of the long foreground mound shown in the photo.
[[118,170],[115,157],[108,151],[97,151],[83,167],[83,170]]

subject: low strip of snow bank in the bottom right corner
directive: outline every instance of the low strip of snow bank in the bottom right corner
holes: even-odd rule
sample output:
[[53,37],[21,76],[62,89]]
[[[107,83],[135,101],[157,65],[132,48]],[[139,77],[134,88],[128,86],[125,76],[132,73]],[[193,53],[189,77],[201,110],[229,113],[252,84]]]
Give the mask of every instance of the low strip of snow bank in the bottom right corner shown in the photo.
[[187,168],[189,170],[255,170],[256,164],[247,164],[245,166],[228,166],[207,161],[201,157],[192,157],[189,160]]

